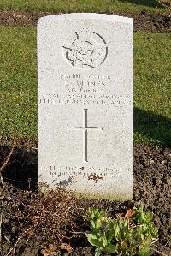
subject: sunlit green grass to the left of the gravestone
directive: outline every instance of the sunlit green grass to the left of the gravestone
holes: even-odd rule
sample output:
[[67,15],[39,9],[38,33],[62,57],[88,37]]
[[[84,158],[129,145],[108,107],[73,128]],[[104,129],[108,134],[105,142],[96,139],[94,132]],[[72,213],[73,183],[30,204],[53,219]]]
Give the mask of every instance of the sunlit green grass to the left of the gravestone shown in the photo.
[[36,30],[0,27],[0,138],[37,136]]

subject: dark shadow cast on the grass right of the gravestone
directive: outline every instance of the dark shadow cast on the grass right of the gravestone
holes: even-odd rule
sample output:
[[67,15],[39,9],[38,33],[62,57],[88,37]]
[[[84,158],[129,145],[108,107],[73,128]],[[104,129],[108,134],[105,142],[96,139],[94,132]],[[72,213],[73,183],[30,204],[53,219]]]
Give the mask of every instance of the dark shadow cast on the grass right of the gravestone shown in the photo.
[[161,146],[171,146],[171,119],[134,108],[134,133],[144,134]]

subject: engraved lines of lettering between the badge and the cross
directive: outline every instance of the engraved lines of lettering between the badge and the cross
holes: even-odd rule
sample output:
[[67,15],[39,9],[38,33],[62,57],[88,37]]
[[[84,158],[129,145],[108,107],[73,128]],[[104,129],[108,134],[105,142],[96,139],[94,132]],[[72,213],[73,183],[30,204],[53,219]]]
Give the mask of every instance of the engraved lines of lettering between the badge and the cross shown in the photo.
[[[132,95],[127,92],[128,81],[123,80],[126,86],[125,92],[116,93],[111,89],[113,86],[117,88],[120,80],[106,74],[59,74],[56,80],[60,80],[60,84],[66,92],[65,97],[62,93],[56,92],[41,95],[39,97],[40,104],[88,104],[97,105],[113,105],[117,108],[127,108],[132,105]],[[56,88],[57,88],[56,84]]]

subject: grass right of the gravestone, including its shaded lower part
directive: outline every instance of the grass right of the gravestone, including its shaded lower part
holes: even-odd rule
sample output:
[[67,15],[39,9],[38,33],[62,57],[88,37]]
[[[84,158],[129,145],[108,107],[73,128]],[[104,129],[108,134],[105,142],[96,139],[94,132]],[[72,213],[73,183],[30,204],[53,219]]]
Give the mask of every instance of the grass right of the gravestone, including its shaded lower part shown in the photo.
[[171,146],[171,51],[168,33],[136,33],[135,141]]

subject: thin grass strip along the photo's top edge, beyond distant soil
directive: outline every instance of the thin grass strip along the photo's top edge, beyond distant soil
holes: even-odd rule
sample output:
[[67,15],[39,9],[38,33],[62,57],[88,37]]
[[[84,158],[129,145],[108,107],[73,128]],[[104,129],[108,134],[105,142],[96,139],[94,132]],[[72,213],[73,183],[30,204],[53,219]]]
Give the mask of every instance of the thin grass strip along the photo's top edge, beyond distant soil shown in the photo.
[[166,11],[156,0],[3,0],[1,9],[56,12]]

